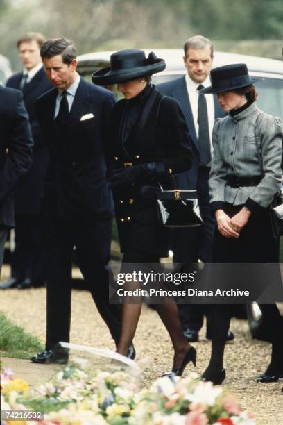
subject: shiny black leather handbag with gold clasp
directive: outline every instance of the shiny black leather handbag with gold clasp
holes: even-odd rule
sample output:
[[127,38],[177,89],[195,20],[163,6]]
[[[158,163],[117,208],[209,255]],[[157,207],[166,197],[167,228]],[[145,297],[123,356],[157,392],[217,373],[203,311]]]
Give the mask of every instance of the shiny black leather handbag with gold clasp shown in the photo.
[[160,222],[166,227],[196,227],[203,224],[196,190],[160,190],[157,192]]

